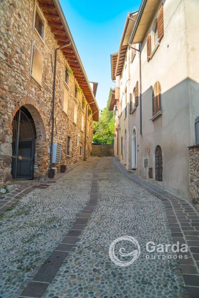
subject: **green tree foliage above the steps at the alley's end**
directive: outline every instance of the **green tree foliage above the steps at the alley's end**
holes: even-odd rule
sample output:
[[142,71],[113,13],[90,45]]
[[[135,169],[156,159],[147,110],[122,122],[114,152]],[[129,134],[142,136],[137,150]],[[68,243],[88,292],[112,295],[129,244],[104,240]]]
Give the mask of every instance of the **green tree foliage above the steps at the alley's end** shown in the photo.
[[103,142],[104,144],[112,144],[114,142],[114,112],[108,109],[110,97],[111,88],[107,100],[107,107],[103,109],[103,114],[101,114],[99,121],[94,121],[93,123],[93,129],[96,131],[92,137],[93,142]]

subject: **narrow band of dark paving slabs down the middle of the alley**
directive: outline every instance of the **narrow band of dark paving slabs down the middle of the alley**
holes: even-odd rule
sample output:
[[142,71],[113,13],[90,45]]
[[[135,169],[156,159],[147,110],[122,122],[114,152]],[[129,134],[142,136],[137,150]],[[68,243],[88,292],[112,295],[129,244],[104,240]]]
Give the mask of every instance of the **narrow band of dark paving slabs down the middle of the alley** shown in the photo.
[[91,219],[91,214],[98,203],[98,169],[102,160],[103,159],[98,162],[97,166],[93,170],[90,199],[87,206],[84,210],[82,210],[79,218],[75,221],[66,237],[52,252],[51,256],[41,266],[33,280],[28,283],[27,287],[18,298],[41,297],[44,294],[65,258],[70,253],[70,250],[73,248],[75,242],[78,240],[78,237],[84,226],[87,224],[87,221]]

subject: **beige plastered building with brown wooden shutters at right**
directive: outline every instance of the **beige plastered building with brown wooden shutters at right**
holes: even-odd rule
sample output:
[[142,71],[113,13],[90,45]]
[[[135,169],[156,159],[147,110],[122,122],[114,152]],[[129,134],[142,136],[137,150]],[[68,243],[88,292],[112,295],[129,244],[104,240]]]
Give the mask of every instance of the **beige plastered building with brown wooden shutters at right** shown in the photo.
[[187,199],[187,147],[199,115],[198,10],[198,1],[142,0],[111,55],[115,155],[132,174]]

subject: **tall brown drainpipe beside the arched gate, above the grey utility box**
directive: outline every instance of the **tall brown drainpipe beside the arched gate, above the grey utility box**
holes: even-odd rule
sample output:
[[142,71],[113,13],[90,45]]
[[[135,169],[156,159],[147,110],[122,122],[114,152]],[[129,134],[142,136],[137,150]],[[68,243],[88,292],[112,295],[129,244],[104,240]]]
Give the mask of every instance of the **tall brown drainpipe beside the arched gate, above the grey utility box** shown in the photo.
[[54,138],[54,124],[55,124],[55,83],[56,83],[56,67],[57,67],[57,51],[61,50],[67,46],[70,46],[71,42],[69,44],[65,44],[64,46],[60,46],[57,49],[55,49],[55,66],[54,66],[54,80],[53,80],[53,108],[52,108],[52,132],[51,132],[51,146],[50,146],[50,170],[52,169],[52,159],[53,159],[53,138]]

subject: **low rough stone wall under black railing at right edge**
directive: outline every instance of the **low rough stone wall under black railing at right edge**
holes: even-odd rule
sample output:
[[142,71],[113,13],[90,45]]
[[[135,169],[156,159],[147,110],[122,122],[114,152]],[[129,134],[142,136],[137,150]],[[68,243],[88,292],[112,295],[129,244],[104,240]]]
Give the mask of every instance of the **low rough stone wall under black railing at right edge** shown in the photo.
[[191,203],[199,211],[199,145],[189,147],[189,187]]

